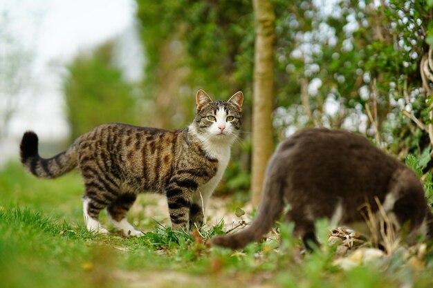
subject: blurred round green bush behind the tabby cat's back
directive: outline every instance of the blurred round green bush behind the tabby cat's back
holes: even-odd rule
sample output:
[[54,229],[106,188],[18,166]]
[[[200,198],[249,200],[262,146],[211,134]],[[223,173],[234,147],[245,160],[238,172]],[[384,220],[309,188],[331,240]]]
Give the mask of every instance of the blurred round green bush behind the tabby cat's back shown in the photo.
[[73,139],[107,122],[137,123],[132,86],[113,61],[108,42],[68,65],[63,88]]

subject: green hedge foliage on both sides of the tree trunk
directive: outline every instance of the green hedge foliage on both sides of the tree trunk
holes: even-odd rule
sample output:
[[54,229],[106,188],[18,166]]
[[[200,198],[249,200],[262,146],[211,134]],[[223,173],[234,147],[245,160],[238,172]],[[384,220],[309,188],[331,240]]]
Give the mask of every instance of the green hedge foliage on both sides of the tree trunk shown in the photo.
[[[243,90],[246,95],[243,130],[250,131],[255,40],[251,3],[243,0],[218,3],[137,0],[137,3],[148,59],[143,84],[147,103],[174,93],[176,97],[171,96],[171,102],[165,102],[174,103],[176,108],[170,114],[179,115],[192,113],[191,95],[196,88],[207,88],[216,97]],[[306,126],[348,128],[375,137],[379,146],[402,159],[407,153],[421,155],[430,140],[408,115],[424,124],[431,122],[431,105],[419,73],[421,57],[429,39],[433,39],[430,1],[273,0],[272,3],[277,37],[274,48],[277,139]],[[169,59],[175,64],[164,65],[174,51],[178,51],[177,60]],[[183,70],[181,80],[176,83],[177,88],[165,93],[174,77],[167,77],[164,71],[175,68]],[[167,106],[151,107],[152,117],[167,117],[163,113]],[[191,117],[190,114],[176,119],[186,123]],[[243,161],[246,153],[235,150],[232,158],[242,161],[233,165],[238,169],[234,174],[250,173],[250,167],[246,166],[250,160]]]

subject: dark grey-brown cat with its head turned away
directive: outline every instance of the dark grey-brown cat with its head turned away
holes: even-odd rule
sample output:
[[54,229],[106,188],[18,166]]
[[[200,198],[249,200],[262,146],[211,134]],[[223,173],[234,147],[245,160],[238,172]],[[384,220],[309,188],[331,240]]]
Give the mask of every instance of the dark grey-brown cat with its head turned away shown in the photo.
[[375,198],[396,229],[407,223],[412,239],[418,234],[433,238],[432,210],[411,169],[360,135],[304,130],[279,144],[271,157],[261,206],[250,227],[211,243],[237,249],[259,240],[290,204],[285,220],[294,222],[295,235],[311,249],[310,243],[318,244],[315,220],[360,227],[367,207],[380,220]]

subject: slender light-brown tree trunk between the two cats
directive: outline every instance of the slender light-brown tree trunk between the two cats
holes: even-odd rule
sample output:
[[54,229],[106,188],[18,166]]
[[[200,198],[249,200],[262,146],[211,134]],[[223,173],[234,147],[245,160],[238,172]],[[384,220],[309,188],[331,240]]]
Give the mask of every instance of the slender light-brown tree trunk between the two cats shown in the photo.
[[269,0],[253,0],[255,59],[252,108],[251,202],[261,200],[266,164],[273,153],[275,12]]

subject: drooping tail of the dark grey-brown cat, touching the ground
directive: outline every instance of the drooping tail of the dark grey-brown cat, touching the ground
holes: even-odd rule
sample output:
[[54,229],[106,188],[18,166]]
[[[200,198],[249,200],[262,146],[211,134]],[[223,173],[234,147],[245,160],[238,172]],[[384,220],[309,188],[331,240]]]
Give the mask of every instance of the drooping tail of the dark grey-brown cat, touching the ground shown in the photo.
[[266,169],[264,192],[257,217],[249,227],[227,236],[219,236],[210,240],[212,245],[239,249],[248,243],[260,240],[267,233],[283,211],[284,177],[286,169],[279,167],[279,161],[272,157]]

